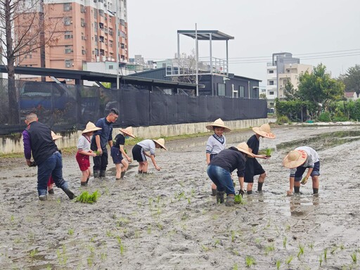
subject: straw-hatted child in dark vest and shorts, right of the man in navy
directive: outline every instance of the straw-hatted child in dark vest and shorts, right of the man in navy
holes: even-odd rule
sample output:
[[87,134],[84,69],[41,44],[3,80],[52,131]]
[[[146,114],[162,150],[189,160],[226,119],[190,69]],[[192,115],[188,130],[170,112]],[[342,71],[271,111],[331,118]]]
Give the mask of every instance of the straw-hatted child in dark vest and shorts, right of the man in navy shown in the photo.
[[[136,138],[134,134],[132,134],[132,127],[127,127],[126,129],[119,129],[122,134],[117,134],[115,137],[115,143],[113,143],[113,147],[111,148],[111,157],[113,158],[113,162],[116,167],[116,176],[115,180],[124,179],[124,175],[127,172],[127,168],[129,167],[129,163],[131,162],[131,158],[124,150],[125,139],[132,137]],[[125,160],[126,158],[127,160]]]

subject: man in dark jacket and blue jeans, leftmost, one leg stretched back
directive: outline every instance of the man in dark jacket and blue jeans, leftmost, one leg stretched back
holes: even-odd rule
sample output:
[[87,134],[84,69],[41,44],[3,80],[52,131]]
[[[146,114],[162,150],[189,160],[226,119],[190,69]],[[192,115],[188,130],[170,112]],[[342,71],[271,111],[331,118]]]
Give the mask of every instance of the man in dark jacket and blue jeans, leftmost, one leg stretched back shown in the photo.
[[[35,113],[26,115],[27,128],[23,131],[24,155],[29,167],[37,166],[37,192],[39,200],[47,200],[47,183],[53,177],[58,188],[61,188],[72,200],[74,193],[63,179],[63,160],[58,147],[51,137],[51,129],[38,122]],[[31,157],[34,161],[31,161]]]

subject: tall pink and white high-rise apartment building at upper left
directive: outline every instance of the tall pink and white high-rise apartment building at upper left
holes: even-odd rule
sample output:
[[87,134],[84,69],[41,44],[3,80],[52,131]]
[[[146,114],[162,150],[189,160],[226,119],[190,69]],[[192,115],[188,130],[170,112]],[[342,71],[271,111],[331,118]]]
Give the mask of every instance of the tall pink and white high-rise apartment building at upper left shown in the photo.
[[[86,63],[106,62],[116,70],[117,44],[119,62],[129,60],[127,0],[44,0],[44,21],[56,22],[55,41],[43,56],[45,68],[84,70]],[[28,53],[18,64],[41,67],[40,51]]]

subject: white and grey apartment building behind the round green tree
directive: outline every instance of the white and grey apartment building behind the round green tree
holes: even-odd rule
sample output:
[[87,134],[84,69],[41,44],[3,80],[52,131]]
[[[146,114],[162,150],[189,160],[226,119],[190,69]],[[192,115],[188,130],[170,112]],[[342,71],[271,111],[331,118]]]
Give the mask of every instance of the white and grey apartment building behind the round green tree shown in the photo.
[[272,62],[266,67],[266,98],[268,108],[273,108],[275,99],[285,98],[285,85],[293,84],[294,89],[299,85],[299,75],[312,71],[312,65],[300,64],[300,58],[293,58],[292,53],[273,53]]

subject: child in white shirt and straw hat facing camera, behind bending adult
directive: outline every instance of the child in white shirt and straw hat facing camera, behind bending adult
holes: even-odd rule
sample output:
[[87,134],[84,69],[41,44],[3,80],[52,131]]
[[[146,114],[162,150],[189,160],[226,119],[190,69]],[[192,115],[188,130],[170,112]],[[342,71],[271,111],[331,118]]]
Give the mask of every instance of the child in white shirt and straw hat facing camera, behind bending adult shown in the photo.
[[[207,139],[206,143],[206,164],[209,165],[212,158],[226,148],[226,137],[224,132],[229,132],[231,129],[226,127],[221,118],[215,120],[212,124],[206,126],[207,129],[214,131],[214,134]],[[217,195],[217,186],[214,182],[211,185],[212,195]]]

